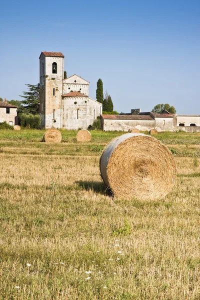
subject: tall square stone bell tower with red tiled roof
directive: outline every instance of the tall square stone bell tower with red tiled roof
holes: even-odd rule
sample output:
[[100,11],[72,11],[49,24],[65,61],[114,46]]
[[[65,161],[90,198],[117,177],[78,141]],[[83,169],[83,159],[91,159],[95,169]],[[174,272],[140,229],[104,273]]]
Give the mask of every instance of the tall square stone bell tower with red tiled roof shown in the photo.
[[41,126],[62,128],[64,55],[41,52],[39,56],[39,114]]

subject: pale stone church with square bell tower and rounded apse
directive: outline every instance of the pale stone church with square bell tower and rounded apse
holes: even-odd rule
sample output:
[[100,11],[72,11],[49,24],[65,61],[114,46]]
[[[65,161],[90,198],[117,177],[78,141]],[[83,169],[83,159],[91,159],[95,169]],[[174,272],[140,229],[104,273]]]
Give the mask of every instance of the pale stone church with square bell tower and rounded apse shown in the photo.
[[89,82],[78,75],[64,79],[64,55],[39,56],[39,114],[45,128],[86,129],[102,113],[102,103],[89,97]]

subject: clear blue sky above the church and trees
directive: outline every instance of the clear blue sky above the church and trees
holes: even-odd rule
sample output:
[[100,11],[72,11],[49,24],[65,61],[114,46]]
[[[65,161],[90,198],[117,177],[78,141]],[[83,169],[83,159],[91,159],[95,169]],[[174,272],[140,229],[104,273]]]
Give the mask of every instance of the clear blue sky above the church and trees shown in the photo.
[[91,98],[102,79],[118,112],[169,103],[200,114],[199,15],[199,0],[4,1],[0,97],[21,100],[39,82],[41,51],[58,51]]

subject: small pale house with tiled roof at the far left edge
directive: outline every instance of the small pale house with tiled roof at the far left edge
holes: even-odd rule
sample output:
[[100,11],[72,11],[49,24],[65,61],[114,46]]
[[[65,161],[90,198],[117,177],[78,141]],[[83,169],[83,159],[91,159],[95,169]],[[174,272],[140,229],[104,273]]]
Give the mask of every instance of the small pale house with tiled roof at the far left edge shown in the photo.
[[15,125],[16,121],[16,106],[7,103],[7,100],[0,101],[0,123],[6,121],[9,125]]

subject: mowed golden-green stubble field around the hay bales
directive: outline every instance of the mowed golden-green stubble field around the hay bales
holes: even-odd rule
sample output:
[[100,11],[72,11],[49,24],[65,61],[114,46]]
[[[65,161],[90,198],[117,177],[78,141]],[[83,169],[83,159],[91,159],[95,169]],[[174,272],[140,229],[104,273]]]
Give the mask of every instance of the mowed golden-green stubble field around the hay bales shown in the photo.
[[200,299],[200,134],[156,138],[175,157],[161,200],[115,199],[99,158],[124,132],[0,130],[0,299]]

